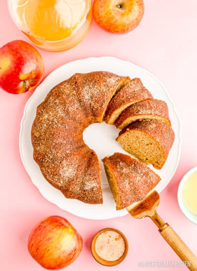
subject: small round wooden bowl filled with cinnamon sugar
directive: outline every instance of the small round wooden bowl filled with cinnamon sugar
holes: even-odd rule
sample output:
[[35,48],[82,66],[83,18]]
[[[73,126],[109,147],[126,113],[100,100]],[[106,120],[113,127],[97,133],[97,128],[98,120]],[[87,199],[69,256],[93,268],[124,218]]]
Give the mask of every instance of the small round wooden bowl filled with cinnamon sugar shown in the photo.
[[99,231],[91,243],[92,255],[99,264],[115,266],[120,264],[128,253],[128,241],[123,233],[113,228]]

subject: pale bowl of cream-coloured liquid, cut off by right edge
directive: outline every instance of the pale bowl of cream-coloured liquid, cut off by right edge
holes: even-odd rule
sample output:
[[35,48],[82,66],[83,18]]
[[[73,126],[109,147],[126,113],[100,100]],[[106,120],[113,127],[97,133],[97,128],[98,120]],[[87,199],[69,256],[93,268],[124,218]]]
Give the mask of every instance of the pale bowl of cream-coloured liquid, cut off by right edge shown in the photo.
[[197,167],[184,175],[179,184],[177,197],[184,215],[197,224]]

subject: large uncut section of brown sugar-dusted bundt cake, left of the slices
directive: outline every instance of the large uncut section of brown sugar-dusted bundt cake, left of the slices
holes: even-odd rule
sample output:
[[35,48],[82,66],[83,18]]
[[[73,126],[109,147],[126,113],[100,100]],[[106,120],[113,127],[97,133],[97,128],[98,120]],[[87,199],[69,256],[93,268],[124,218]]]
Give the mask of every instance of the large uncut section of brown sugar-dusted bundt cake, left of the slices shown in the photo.
[[55,86],[37,107],[33,158],[66,198],[102,203],[98,157],[84,143],[83,131],[102,122],[108,103],[129,81],[106,71],[77,73]]

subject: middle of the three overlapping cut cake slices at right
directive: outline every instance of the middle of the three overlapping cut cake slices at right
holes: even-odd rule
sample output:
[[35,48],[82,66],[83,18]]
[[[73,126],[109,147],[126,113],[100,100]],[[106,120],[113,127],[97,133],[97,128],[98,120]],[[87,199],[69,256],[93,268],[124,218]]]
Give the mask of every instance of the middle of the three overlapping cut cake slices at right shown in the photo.
[[131,104],[121,113],[115,121],[115,125],[122,130],[132,122],[141,119],[155,119],[171,126],[166,102],[155,99],[147,99]]

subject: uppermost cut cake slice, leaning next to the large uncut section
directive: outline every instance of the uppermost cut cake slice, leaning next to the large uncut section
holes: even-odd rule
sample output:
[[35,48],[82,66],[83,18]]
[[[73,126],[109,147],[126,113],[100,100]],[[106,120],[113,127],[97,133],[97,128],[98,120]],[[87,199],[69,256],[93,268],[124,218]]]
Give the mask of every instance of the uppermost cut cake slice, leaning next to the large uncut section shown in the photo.
[[104,121],[113,124],[122,111],[132,103],[152,99],[151,93],[143,86],[139,78],[134,78],[122,88],[107,106]]

